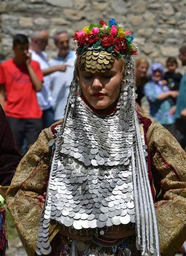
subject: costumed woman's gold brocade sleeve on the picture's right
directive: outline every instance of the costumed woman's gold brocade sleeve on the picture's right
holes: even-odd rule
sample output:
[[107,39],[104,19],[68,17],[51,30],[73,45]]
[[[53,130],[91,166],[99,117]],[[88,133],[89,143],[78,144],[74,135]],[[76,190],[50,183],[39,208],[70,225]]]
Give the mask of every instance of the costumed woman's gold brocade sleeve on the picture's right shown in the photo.
[[162,179],[163,200],[155,203],[162,256],[174,256],[186,239],[186,154],[160,124],[148,129],[152,167]]

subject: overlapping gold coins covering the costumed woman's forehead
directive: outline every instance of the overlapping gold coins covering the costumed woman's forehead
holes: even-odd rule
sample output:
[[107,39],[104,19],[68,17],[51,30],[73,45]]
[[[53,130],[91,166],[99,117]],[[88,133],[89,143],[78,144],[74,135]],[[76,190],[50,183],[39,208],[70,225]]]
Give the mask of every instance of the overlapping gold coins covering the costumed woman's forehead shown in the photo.
[[106,51],[88,50],[79,56],[79,70],[87,72],[106,72],[113,67],[116,55]]

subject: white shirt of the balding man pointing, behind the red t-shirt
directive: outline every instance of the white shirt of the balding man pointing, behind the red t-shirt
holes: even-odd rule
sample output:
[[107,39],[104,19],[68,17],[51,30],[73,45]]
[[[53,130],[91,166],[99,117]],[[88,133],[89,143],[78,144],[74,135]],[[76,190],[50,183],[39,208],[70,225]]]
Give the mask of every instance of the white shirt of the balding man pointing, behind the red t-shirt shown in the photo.
[[[37,61],[40,65],[40,69],[49,68],[49,63],[47,61],[47,54],[45,52],[34,52],[33,50],[29,50],[32,56],[31,58]],[[42,86],[42,90],[36,93],[38,104],[42,110],[46,110],[52,107],[52,96],[51,96],[51,75],[44,76],[44,82]]]

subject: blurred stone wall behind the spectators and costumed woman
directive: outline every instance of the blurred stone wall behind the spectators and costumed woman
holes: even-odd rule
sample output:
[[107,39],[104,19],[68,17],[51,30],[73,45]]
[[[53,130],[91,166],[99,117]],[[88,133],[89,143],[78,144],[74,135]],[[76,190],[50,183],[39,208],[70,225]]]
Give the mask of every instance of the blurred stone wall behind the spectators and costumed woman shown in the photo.
[[[46,29],[50,40],[49,56],[56,55],[52,35],[58,28],[74,30],[100,19],[111,17],[131,30],[139,46],[139,55],[150,61],[178,56],[186,43],[186,0],[0,0],[0,59],[12,55],[12,36],[31,35],[33,30]],[[71,41],[75,48],[75,42]]]

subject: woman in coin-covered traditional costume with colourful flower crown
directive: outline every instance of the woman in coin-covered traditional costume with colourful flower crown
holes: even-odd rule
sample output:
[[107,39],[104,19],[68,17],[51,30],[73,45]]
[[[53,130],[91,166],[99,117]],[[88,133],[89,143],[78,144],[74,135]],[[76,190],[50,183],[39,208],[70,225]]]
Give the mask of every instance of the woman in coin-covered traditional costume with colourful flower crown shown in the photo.
[[133,36],[111,19],[74,39],[64,119],[41,132],[7,192],[27,254],[174,256],[186,234],[185,153],[135,109]]

